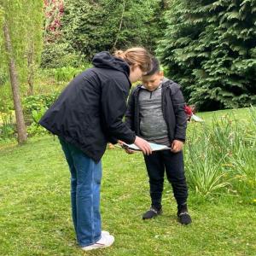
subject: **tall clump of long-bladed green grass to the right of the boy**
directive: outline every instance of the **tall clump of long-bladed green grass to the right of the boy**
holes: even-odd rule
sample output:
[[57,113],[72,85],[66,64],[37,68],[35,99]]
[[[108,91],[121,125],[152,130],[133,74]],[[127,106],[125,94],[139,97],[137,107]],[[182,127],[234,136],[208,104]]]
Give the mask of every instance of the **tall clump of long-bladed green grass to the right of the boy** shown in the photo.
[[185,163],[189,187],[198,195],[256,199],[256,109],[249,119],[230,113],[211,124],[189,124]]

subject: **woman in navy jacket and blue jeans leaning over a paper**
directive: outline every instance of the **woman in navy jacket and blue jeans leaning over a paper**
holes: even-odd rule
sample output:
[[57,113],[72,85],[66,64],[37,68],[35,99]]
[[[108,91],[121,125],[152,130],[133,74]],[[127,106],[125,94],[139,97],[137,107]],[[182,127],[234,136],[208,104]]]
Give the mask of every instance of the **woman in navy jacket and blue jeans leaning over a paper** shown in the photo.
[[98,53],[92,63],[39,122],[60,138],[71,172],[74,229],[84,250],[114,241],[102,231],[100,214],[101,159],[107,143],[135,143],[143,154],[151,154],[149,144],[122,122],[131,83],[150,70],[151,56],[146,49],[131,48],[114,55]]

